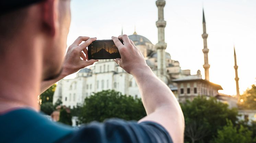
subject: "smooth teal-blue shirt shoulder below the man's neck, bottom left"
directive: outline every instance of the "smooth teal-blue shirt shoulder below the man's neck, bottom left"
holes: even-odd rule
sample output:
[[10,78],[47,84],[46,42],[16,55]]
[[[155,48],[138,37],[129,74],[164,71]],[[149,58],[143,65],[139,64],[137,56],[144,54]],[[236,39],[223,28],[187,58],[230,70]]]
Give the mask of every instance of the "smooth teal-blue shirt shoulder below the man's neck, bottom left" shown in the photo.
[[33,109],[15,109],[0,115],[0,142],[55,142],[74,132]]

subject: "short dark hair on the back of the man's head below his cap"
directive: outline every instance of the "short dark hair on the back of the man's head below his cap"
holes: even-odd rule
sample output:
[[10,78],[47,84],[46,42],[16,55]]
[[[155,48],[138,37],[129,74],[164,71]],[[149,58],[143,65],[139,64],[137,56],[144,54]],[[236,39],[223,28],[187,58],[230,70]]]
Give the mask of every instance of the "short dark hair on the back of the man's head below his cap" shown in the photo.
[[0,14],[0,55],[5,52],[4,42],[11,40],[15,33],[19,33],[24,26],[27,13],[27,8],[21,8],[9,13]]

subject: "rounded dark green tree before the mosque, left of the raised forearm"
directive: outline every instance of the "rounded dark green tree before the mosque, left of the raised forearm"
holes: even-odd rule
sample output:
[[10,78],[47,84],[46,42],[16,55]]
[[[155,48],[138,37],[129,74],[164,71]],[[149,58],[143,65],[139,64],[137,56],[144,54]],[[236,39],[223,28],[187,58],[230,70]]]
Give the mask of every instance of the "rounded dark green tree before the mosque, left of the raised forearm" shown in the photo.
[[141,99],[121,95],[114,90],[103,90],[87,97],[81,107],[81,123],[104,121],[107,118],[139,120],[146,116]]

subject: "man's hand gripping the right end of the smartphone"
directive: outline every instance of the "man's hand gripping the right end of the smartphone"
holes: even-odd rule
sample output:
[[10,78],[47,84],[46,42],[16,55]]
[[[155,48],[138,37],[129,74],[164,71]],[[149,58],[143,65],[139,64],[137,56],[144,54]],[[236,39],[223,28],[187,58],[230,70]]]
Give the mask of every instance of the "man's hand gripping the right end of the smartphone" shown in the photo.
[[[125,44],[123,45],[119,39],[123,40]],[[121,59],[117,58],[115,61],[127,73],[133,75],[144,67],[148,67],[145,58],[127,35],[120,35],[118,38],[112,37],[112,40],[121,55]]]

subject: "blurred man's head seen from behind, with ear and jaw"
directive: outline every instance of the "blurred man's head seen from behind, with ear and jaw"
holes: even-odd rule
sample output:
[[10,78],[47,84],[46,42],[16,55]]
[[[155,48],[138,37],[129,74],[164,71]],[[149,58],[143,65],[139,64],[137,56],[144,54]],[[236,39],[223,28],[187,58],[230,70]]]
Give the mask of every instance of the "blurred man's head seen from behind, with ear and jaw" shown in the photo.
[[[7,0],[6,0],[7,1]],[[42,78],[49,79],[61,72],[70,26],[70,0],[9,0],[9,10],[0,14],[0,57],[20,51],[24,58],[34,54],[42,62]],[[5,2],[3,2],[5,3]],[[20,3],[22,7],[17,7]],[[24,4],[26,3],[26,4]],[[1,2],[2,4],[2,2]],[[4,6],[4,5],[2,5]],[[2,7],[1,6],[1,7]],[[10,47],[13,43],[29,48]],[[21,46],[22,47],[22,46]],[[28,47],[28,46],[27,46]],[[22,57],[19,57],[22,58]]]

